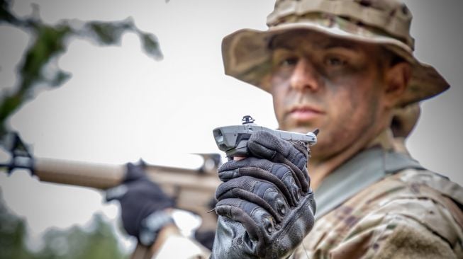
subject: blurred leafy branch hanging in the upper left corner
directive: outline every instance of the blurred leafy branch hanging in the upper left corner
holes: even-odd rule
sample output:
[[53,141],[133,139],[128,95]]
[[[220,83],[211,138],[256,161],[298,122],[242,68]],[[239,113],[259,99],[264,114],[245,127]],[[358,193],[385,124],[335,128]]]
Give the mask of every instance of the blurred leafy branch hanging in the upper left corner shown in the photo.
[[62,20],[48,25],[38,17],[38,6],[31,16],[17,17],[11,11],[11,1],[0,0],[0,25],[4,24],[26,31],[30,44],[18,67],[18,85],[13,91],[4,90],[0,95],[0,139],[8,132],[8,117],[34,97],[35,88],[60,86],[69,79],[69,73],[53,64],[66,52],[72,38],[84,38],[99,45],[118,45],[123,33],[132,32],[138,35],[148,56],[162,59],[155,35],[138,29],[131,18],[112,22]]

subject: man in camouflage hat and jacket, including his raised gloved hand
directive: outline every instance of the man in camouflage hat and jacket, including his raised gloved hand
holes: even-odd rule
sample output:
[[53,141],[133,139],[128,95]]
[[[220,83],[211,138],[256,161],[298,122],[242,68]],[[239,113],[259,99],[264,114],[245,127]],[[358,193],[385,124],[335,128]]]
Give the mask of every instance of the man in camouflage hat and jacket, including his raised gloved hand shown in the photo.
[[395,110],[449,87],[413,56],[411,17],[396,0],[277,0],[268,30],[223,39],[225,74],[271,93],[280,129],[320,134],[310,178],[306,149],[265,132],[219,168],[211,258],[463,258],[463,189],[391,132]]

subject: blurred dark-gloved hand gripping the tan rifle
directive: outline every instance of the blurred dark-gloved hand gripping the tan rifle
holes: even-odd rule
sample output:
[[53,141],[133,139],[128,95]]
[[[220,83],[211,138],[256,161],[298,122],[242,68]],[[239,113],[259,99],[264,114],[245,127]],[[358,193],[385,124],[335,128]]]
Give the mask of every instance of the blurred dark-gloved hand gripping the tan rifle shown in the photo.
[[[174,207],[175,203],[159,185],[147,178],[143,164],[133,163],[127,164],[123,184],[106,191],[106,200],[121,202],[125,231],[131,236],[136,236],[145,245],[150,245],[155,238],[155,233],[150,233],[150,221],[157,221],[154,225],[169,223],[170,219],[162,212]],[[147,221],[149,218],[152,220]]]

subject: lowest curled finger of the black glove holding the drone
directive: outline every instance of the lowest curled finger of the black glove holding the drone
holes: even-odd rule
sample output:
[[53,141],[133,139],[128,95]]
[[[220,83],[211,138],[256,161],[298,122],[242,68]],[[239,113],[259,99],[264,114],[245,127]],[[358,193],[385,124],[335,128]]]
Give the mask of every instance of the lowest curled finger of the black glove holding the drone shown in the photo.
[[[272,216],[265,209],[246,200],[234,198],[221,200],[216,205],[216,213],[240,222],[252,242],[267,243],[268,235],[275,231]],[[246,242],[250,243],[250,241]]]

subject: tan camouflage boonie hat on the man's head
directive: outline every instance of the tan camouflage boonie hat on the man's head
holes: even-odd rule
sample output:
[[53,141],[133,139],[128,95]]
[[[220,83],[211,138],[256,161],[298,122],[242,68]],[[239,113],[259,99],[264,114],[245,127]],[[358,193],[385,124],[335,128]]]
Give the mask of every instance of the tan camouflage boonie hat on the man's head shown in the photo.
[[266,79],[272,52],[269,42],[289,30],[314,30],[327,35],[383,45],[412,66],[411,81],[398,106],[442,93],[449,84],[433,68],[413,56],[412,15],[397,0],[277,0],[267,16],[268,30],[243,29],[222,42],[225,74],[269,92]]

